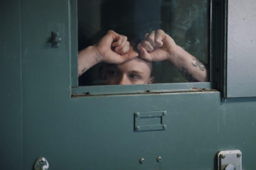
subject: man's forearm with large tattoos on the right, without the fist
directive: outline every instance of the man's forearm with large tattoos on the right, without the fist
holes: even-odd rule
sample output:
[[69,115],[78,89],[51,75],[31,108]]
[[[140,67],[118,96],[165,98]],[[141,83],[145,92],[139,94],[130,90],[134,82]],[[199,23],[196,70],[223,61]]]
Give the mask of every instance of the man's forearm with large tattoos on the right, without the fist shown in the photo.
[[193,55],[183,50],[178,46],[176,55],[169,60],[171,64],[183,74],[184,77],[190,82],[204,82],[207,81],[207,69],[206,64],[203,64],[200,60]]

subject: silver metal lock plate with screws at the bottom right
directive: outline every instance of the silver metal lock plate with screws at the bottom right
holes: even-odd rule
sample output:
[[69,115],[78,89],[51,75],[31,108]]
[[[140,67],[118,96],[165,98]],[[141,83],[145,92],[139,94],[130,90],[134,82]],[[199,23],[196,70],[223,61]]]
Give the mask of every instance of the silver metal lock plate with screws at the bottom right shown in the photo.
[[242,170],[242,153],[240,150],[218,152],[218,170]]

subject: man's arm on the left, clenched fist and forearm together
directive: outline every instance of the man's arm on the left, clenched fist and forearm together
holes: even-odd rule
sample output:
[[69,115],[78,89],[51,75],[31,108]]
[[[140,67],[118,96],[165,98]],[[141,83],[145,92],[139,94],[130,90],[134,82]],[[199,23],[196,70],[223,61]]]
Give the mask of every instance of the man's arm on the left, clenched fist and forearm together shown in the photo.
[[78,53],[78,77],[99,62],[121,64],[138,56],[138,52],[130,47],[126,36],[109,30],[96,45],[86,47]]

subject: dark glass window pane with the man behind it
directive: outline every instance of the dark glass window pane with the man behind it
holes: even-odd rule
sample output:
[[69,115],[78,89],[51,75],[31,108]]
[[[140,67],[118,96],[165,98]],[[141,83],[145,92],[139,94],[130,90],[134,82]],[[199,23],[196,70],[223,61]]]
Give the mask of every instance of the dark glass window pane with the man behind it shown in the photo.
[[80,86],[208,80],[207,0],[78,0]]

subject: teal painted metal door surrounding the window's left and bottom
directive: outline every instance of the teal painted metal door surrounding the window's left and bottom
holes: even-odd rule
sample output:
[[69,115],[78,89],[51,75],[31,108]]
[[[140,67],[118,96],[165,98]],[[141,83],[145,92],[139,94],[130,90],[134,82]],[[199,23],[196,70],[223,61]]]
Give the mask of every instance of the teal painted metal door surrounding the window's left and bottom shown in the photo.
[[[38,157],[49,169],[217,169],[216,154],[228,149],[240,149],[242,168],[254,169],[256,98],[221,101],[215,90],[72,96],[70,1],[1,4],[10,10],[1,16],[9,29],[1,28],[0,68],[9,76],[0,169],[33,169]],[[165,128],[136,130],[134,113],[160,111]]]

